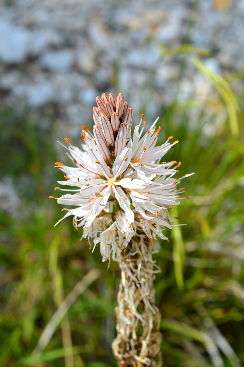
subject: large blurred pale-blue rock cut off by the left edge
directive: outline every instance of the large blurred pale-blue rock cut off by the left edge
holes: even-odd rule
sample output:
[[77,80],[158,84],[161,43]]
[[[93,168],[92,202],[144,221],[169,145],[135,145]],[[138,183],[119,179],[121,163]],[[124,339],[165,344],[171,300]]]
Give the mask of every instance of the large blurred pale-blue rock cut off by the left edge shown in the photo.
[[10,22],[0,21],[0,60],[15,64],[29,54],[30,32]]

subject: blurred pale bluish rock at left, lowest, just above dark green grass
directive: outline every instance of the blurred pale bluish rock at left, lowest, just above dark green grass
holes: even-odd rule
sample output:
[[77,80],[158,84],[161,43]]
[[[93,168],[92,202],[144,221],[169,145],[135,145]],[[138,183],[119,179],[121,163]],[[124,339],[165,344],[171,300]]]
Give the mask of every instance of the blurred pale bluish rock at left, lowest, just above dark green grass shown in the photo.
[[39,83],[29,87],[27,98],[32,107],[44,106],[54,99],[54,88],[47,80],[39,81]]

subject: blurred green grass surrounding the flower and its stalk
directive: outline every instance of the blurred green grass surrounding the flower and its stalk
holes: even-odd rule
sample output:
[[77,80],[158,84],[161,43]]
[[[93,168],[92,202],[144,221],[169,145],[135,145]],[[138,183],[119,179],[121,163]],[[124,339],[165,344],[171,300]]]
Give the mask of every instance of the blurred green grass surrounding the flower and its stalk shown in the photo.
[[[235,109],[240,129],[232,134],[227,118],[217,123],[226,106],[221,98],[202,106],[175,101],[160,114],[159,142],[170,135],[180,141],[165,158],[181,160],[179,175],[195,172],[181,184],[189,200],[172,213],[187,226],[168,230],[170,241],[155,244],[165,366],[244,363],[244,106]],[[2,177],[12,179],[21,199],[14,215],[0,217],[0,366],[116,366],[111,343],[118,267],[112,262],[106,272],[99,248],[92,254],[87,243],[79,244],[69,219],[53,228],[62,213],[48,196],[60,179],[53,165],[60,160],[56,140],[63,137],[54,116],[44,127],[43,117],[21,106],[0,109]],[[206,124],[214,126],[211,134]],[[92,269],[99,273],[86,285]],[[50,341],[40,343],[74,290]]]

